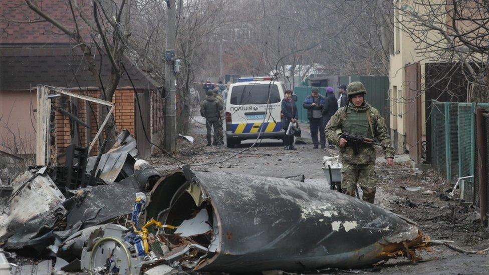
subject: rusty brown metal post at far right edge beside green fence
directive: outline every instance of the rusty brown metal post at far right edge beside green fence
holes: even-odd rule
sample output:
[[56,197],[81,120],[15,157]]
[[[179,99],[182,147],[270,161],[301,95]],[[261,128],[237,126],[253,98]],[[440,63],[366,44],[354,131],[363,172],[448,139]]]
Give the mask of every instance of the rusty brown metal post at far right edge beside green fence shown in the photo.
[[484,138],[484,120],[482,108],[477,108],[475,111],[475,123],[477,124],[477,157],[478,167],[477,173],[479,176],[479,206],[480,206],[480,223],[484,225],[487,222],[487,163],[485,163],[485,150],[484,142],[487,140]]

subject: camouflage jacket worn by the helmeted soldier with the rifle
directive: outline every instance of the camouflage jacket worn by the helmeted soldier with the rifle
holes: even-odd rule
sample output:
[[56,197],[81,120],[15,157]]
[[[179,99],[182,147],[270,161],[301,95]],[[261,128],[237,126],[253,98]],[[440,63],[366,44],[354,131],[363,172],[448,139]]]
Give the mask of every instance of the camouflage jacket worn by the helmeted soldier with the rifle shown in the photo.
[[[392,148],[390,135],[387,127],[385,126],[384,118],[382,118],[377,109],[370,106],[370,104],[368,104],[366,101],[360,107],[355,107],[353,103],[350,103],[348,110],[346,110],[346,107],[342,107],[338,109],[338,111],[331,117],[325,128],[326,137],[331,143],[336,145],[339,144],[342,128],[347,119],[347,112],[370,112],[373,133],[375,135],[375,139],[382,144],[385,158],[394,157],[394,148]],[[375,158],[376,154],[373,146],[360,146],[359,153],[357,155],[353,153],[352,147],[346,146],[340,148],[340,160],[342,163],[375,164]]]

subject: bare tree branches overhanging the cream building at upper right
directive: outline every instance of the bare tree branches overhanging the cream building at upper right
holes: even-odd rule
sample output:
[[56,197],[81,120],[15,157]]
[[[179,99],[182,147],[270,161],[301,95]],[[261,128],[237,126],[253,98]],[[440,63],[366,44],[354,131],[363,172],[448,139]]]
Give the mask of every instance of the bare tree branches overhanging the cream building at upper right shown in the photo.
[[400,2],[396,9],[416,53],[426,61],[447,64],[438,78],[461,73],[467,101],[487,102],[489,2],[418,0],[410,5]]

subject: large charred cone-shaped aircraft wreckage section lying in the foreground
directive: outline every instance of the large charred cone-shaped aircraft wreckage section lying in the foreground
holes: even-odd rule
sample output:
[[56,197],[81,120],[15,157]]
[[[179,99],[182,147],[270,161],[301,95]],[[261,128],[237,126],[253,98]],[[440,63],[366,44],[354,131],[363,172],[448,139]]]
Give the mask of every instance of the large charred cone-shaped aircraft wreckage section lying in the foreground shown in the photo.
[[[176,190],[188,180],[208,196],[221,241],[216,253],[197,265],[199,271],[355,268],[400,255],[404,243],[411,247],[423,238],[414,222],[327,185],[184,170],[152,193]],[[151,200],[148,218],[158,212],[156,203],[163,209],[169,204],[164,197]]]

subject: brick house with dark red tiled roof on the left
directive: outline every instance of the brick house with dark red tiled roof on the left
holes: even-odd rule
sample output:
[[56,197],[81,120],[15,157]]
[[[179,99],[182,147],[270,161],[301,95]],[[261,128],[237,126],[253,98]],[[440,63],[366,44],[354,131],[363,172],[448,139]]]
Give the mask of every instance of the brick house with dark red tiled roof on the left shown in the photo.
[[[36,13],[16,0],[2,1],[2,15],[8,24],[2,24],[0,42],[0,113],[2,116],[0,150],[26,158],[36,154],[36,124],[39,111],[37,85],[64,87],[79,95],[103,98],[103,88],[89,70],[89,64],[77,43],[65,34],[53,30],[46,21],[25,27],[16,21],[36,18]],[[54,0],[43,2],[43,8],[60,23],[72,26],[66,17],[69,4]],[[10,20],[9,20],[10,19]],[[81,20],[81,19],[80,19]],[[108,87],[111,74],[107,55],[94,52],[94,62],[100,68],[103,87]],[[163,130],[163,100],[159,85],[126,57],[123,62],[127,74],[122,74],[112,102],[115,105],[116,128],[127,129],[137,140],[142,157],[151,155],[152,142],[159,141]],[[131,83],[132,81],[132,83]],[[134,84],[134,88],[133,88]],[[139,110],[139,100],[141,110]],[[97,104],[62,95],[54,103],[53,120],[57,126],[53,139],[56,157],[64,163],[66,148],[71,145],[87,146],[97,133],[99,109]],[[22,110],[22,111],[19,111]],[[84,122],[77,124],[72,114]],[[96,147],[93,154],[97,153]]]

